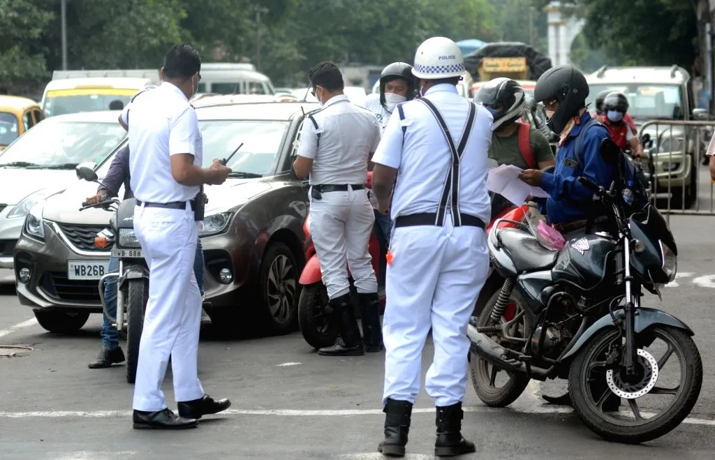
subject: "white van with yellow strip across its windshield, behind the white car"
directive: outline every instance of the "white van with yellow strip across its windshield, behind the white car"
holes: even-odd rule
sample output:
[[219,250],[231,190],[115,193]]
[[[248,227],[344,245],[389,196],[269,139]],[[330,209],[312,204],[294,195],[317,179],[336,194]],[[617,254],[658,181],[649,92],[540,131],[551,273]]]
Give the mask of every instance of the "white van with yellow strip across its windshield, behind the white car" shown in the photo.
[[158,70],[54,71],[42,95],[45,116],[109,110],[109,104],[127,105],[144,86],[158,85]]

